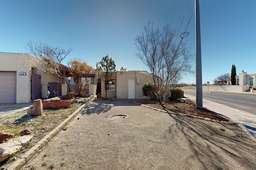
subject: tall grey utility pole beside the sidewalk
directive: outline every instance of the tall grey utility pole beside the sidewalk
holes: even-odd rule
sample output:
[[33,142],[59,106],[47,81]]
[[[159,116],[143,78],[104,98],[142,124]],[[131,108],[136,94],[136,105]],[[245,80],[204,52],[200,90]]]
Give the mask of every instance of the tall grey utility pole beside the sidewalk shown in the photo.
[[195,0],[195,6],[196,6],[196,107],[203,108],[199,0]]

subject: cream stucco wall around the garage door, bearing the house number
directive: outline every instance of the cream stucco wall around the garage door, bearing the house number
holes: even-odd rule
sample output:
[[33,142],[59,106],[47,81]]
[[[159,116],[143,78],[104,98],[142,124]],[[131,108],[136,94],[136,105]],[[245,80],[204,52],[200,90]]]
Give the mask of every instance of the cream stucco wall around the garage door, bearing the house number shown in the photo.
[[[31,68],[24,67],[24,62],[20,61],[22,57],[24,58],[20,53],[0,53],[0,71],[16,72],[16,103],[29,103]],[[26,75],[20,76],[19,72],[26,72]]]

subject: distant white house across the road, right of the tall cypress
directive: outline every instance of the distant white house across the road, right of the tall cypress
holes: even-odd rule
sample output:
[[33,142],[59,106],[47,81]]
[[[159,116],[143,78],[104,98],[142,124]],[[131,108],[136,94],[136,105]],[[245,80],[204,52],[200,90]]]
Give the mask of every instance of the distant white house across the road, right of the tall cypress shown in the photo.
[[239,73],[238,76],[236,76],[236,85],[239,85],[239,86],[249,85],[250,88],[254,87],[255,78],[256,78],[256,73],[247,74],[247,72],[244,72],[244,70],[242,70],[242,72]]

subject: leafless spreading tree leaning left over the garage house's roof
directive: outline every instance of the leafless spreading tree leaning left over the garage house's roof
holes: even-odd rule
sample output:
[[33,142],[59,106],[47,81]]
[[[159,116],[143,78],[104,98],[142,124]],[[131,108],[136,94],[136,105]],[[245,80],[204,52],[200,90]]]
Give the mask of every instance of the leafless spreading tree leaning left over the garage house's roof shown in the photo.
[[21,60],[26,62],[27,67],[39,68],[46,73],[55,74],[67,82],[64,75],[65,66],[62,61],[69,55],[72,48],[66,50],[60,47],[52,47],[42,42],[32,43],[32,41],[29,41],[25,48],[27,50],[26,53],[39,58],[31,59],[31,57],[28,58],[28,55],[23,55]]

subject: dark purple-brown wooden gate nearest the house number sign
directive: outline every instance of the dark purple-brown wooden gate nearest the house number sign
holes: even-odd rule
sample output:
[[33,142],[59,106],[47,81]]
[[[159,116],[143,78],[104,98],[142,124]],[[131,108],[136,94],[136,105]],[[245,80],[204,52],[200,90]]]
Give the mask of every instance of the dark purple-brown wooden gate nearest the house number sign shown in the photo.
[[31,74],[31,100],[42,98],[41,75]]

